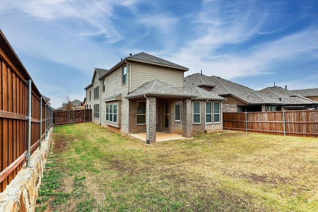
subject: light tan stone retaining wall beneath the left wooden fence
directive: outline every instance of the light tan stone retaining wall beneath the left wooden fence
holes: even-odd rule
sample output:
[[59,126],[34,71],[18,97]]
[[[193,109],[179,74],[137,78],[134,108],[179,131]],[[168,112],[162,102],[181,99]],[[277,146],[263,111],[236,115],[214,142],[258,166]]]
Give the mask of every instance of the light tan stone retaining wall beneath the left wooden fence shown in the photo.
[[47,140],[42,142],[42,149],[31,155],[31,167],[23,168],[0,193],[0,212],[34,212],[44,166],[52,139],[52,129]]

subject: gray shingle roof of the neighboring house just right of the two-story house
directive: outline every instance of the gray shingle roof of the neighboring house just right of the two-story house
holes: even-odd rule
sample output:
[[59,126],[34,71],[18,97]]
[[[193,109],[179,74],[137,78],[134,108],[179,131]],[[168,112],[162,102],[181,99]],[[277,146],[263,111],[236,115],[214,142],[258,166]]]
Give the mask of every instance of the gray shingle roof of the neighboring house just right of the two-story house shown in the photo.
[[215,87],[212,88],[210,92],[214,92],[218,95],[233,94],[249,104],[280,103],[279,101],[273,100],[256,90],[218,76],[206,76],[204,74],[195,73],[184,77],[184,79],[186,87],[201,84],[214,85]]

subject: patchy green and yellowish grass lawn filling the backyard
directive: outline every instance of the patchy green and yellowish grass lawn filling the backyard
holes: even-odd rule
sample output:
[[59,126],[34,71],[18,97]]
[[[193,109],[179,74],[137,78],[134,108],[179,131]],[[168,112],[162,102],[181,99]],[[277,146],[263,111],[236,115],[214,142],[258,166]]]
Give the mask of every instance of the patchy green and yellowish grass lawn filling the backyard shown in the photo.
[[318,211],[318,140],[235,131],[146,144],[54,128],[36,211]]

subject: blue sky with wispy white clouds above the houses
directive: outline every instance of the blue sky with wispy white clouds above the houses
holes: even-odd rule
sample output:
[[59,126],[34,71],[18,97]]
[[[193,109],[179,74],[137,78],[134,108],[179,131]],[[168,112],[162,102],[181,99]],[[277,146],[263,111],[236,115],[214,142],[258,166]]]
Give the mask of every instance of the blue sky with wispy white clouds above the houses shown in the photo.
[[318,87],[316,0],[0,0],[0,28],[55,108],[141,51],[253,89]]

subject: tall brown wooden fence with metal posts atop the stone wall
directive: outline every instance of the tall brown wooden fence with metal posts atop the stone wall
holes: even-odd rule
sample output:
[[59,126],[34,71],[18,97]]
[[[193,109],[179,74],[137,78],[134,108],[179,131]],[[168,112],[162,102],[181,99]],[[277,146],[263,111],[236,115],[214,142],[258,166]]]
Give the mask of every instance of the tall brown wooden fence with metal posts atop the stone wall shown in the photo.
[[52,112],[0,30],[0,192],[45,139]]

